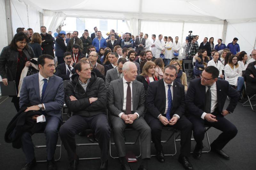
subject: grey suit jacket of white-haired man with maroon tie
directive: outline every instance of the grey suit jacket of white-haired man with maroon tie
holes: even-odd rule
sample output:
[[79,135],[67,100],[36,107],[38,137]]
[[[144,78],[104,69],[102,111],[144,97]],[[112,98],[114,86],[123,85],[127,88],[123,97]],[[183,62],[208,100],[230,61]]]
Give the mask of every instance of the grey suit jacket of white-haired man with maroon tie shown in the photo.
[[[123,111],[124,85],[123,78],[110,82],[108,87],[108,108],[113,116],[118,116]],[[145,109],[145,92],[142,83],[134,80],[132,82],[132,104],[133,112],[141,116]]]

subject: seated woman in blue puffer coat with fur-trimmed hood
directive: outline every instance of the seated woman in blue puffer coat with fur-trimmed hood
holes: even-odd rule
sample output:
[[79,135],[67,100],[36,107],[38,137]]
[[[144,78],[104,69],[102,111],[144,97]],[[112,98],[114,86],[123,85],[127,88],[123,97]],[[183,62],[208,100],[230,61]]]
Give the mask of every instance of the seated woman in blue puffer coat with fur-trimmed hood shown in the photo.
[[194,75],[200,76],[202,74],[204,68],[207,67],[207,63],[209,62],[210,58],[207,56],[207,51],[205,49],[200,50],[198,52],[198,56],[195,58],[196,59],[196,64],[194,68]]

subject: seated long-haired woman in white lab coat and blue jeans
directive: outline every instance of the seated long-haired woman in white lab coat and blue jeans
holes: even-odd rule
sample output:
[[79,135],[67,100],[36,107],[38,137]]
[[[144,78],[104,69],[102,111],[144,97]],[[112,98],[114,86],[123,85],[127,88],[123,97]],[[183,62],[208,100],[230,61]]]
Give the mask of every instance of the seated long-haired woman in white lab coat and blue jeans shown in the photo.
[[230,85],[237,86],[237,91],[241,93],[244,86],[244,78],[242,77],[242,70],[237,63],[237,56],[231,55],[228,60],[228,64],[224,69],[225,80],[228,81]]

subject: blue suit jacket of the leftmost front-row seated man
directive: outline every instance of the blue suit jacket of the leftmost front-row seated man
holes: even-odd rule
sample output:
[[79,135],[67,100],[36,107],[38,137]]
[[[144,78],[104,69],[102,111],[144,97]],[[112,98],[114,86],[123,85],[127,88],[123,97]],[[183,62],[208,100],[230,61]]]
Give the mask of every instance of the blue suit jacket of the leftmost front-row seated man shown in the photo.
[[20,108],[29,104],[31,106],[44,104],[47,115],[58,117],[62,121],[61,109],[64,104],[62,78],[55,75],[49,78],[44,98],[41,100],[38,73],[25,77],[20,90]]

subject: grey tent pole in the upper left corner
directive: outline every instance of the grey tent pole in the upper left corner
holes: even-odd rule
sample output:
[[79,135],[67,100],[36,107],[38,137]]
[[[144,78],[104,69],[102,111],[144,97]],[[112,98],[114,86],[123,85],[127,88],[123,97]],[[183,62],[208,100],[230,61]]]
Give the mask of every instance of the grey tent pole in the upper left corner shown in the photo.
[[4,4],[5,4],[5,12],[6,12],[7,39],[8,39],[8,44],[10,44],[13,37],[11,0],[5,0]]

